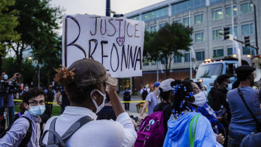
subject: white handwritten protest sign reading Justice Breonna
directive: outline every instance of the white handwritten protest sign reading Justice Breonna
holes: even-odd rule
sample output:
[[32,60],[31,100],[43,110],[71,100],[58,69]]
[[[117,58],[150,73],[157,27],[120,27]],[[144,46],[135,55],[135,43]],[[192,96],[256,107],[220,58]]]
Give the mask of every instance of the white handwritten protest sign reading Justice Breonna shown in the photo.
[[63,18],[63,66],[97,60],[115,78],[142,76],[144,22],[89,14]]

